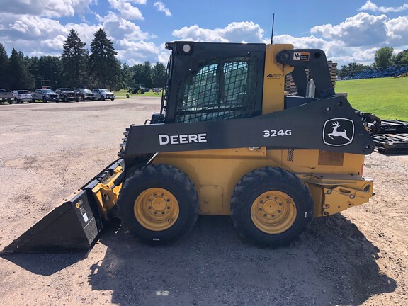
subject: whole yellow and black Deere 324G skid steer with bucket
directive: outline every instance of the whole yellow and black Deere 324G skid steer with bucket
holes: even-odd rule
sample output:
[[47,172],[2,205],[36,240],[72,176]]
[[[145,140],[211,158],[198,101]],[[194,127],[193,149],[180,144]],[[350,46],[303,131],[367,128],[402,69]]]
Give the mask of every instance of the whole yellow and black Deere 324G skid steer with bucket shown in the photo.
[[[380,120],[334,92],[322,50],[171,42],[160,113],[131,125],[113,162],[3,252],[88,249],[120,217],[170,241],[231,215],[246,241],[289,242],[373,196],[363,178]],[[307,77],[309,71],[312,79]],[[291,74],[297,95],[285,94]]]

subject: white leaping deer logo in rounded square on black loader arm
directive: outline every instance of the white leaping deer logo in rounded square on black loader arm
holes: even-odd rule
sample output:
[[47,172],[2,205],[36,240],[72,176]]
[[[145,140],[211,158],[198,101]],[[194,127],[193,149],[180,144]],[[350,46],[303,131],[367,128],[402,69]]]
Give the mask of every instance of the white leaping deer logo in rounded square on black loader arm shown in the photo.
[[348,145],[353,141],[354,123],[346,118],[333,118],[324,123],[323,142],[330,146]]

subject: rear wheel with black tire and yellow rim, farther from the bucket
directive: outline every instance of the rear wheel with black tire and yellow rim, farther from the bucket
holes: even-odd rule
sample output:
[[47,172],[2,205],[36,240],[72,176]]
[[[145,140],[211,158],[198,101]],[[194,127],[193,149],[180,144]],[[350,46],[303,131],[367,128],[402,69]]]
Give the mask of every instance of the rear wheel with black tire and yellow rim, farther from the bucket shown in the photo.
[[241,237],[261,246],[285,244],[305,232],[313,218],[309,189],[295,174],[263,167],[234,188],[231,217]]

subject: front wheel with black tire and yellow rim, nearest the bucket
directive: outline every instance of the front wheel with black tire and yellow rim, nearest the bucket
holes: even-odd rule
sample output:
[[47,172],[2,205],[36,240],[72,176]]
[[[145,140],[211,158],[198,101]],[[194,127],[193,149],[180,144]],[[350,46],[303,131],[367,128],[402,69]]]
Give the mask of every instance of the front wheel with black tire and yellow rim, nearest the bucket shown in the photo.
[[123,183],[118,215],[142,242],[169,242],[193,229],[198,206],[196,188],[186,174],[166,164],[148,165]]

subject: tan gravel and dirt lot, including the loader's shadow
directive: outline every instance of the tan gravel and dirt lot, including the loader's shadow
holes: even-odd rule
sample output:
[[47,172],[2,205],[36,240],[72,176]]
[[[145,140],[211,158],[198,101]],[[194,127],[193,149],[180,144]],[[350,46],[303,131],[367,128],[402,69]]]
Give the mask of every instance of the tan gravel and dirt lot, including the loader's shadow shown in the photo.
[[[116,158],[157,98],[0,106],[0,249]],[[199,217],[175,244],[112,225],[89,252],[0,257],[0,305],[408,305],[408,156],[374,153],[370,203],[278,249]],[[69,230],[69,229],[67,229]]]

